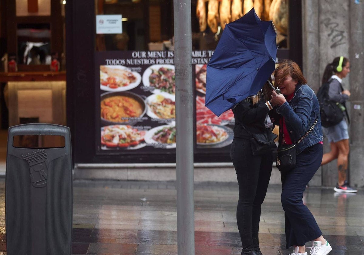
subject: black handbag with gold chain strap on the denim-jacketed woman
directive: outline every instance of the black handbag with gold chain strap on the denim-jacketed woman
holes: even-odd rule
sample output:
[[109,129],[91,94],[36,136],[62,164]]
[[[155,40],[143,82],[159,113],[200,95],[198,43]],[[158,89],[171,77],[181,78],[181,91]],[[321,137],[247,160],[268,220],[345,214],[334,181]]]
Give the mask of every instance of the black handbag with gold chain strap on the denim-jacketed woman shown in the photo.
[[312,127],[306,132],[304,136],[300,138],[300,140],[298,140],[296,144],[283,144],[278,147],[276,166],[280,172],[288,173],[290,170],[296,167],[296,145],[299,144],[302,139],[311,132],[316,123],[317,119],[313,123]]

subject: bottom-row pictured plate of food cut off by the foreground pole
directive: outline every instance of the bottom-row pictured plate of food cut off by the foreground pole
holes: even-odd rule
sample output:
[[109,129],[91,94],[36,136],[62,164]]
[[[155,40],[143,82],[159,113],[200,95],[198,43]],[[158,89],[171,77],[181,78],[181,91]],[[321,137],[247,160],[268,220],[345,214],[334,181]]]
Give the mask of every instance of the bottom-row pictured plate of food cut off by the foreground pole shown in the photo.
[[174,125],[162,125],[148,130],[144,136],[147,144],[160,148],[176,148],[176,127]]

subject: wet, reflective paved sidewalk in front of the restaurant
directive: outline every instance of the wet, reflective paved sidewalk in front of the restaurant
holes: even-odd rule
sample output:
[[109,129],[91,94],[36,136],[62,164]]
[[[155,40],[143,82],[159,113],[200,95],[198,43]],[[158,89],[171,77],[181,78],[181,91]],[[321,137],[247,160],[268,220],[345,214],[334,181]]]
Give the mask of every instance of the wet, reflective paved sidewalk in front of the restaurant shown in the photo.
[[[72,254],[177,255],[175,182],[74,181]],[[195,254],[239,255],[237,183],[196,183]],[[280,185],[270,185],[260,223],[264,255],[288,255]],[[5,179],[0,179],[0,255],[6,252]],[[309,187],[304,203],[333,250],[364,255],[364,190],[339,194]],[[306,246],[310,246],[307,243]],[[307,249],[309,254],[309,249]]]

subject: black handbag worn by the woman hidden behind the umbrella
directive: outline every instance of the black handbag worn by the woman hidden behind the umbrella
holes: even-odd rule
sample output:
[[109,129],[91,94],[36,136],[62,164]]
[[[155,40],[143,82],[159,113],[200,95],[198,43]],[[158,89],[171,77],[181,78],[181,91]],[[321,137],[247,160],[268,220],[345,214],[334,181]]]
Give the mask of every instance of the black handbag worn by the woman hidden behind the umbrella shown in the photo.
[[252,153],[254,156],[259,156],[266,154],[268,152],[273,152],[277,148],[276,142],[274,140],[277,135],[268,131],[263,133],[251,133],[244,125],[240,125],[245,129],[246,132],[250,134],[250,147],[252,148]]

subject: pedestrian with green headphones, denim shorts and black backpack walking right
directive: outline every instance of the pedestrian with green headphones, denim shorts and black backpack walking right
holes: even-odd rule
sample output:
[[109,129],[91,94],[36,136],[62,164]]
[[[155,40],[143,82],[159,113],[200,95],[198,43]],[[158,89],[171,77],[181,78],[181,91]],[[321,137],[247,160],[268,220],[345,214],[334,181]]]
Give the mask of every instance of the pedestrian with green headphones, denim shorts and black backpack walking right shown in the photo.
[[[330,142],[330,152],[323,155],[321,165],[325,165],[335,159],[337,159],[337,170],[339,179],[334,188],[336,192],[357,192],[356,189],[350,187],[347,181],[347,169],[348,169],[348,155],[349,155],[349,133],[348,123],[349,116],[346,110],[345,102],[348,101],[351,93],[349,90],[344,90],[341,85],[342,79],[345,78],[350,72],[349,59],[344,56],[339,56],[333,59],[332,63],[329,63],[324,71],[322,78],[323,86],[317,93],[317,98],[321,107],[321,121],[323,123],[323,133]],[[326,87],[325,87],[326,86]],[[333,106],[328,106],[324,103],[322,98],[327,98],[329,101],[334,102]],[[336,109],[330,107],[338,107],[339,113],[334,114]],[[326,113],[323,112],[324,107],[332,109]],[[325,119],[323,119],[325,115]],[[339,118],[342,118],[340,121]],[[343,116],[343,117],[341,117]],[[340,121],[339,123],[337,123]]]

